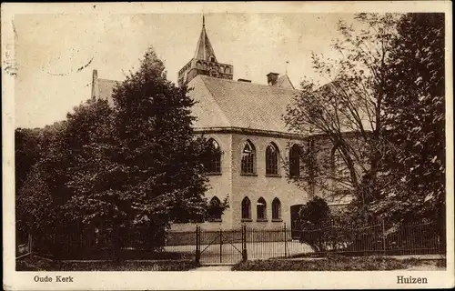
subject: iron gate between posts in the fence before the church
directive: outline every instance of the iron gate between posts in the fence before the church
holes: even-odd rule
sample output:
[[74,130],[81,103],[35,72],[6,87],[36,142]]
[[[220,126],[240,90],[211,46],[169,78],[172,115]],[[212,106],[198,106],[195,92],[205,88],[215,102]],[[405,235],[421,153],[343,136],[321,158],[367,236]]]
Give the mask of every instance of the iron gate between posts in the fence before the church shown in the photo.
[[246,229],[201,230],[197,227],[196,256],[202,265],[236,264],[247,259]]

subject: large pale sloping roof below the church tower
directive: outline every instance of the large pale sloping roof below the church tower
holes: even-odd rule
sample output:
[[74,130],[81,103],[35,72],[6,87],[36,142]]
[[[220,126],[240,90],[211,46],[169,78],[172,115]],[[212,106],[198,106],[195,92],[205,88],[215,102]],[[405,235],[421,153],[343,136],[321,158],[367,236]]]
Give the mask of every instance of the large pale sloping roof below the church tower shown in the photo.
[[188,95],[197,104],[196,128],[239,127],[289,133],[283,119],[297,90],[197,75]]

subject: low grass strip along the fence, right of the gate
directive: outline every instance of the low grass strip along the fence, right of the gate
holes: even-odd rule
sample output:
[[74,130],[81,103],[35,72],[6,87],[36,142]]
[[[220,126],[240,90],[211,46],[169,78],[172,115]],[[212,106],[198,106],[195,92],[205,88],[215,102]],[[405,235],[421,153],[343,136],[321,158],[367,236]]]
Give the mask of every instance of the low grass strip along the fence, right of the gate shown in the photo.
[[385,271],[385,270],[444,270],[445,260],[419,260],[385,256],[346,257],[289,260],[268,259],[239,263],[233,271]]

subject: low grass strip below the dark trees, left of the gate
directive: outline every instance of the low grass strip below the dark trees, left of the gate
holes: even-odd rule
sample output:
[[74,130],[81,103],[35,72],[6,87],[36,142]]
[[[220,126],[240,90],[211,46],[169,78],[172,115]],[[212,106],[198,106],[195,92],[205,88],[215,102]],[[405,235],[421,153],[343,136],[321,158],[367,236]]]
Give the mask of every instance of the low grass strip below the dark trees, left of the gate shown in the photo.
[[38,257],[16,261],[16,271],[187,271],[197,267],[194,261],[162,260],[153,262],[58,262]]

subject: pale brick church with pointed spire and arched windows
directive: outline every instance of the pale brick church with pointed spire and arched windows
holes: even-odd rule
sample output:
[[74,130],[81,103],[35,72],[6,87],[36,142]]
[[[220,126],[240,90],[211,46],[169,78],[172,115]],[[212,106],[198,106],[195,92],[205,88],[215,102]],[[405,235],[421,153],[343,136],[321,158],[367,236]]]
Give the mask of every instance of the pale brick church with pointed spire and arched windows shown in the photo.
[[[197,102],[192,108],[195,133],[206,136],[221,153],[207,165],[206,195],[212,205],[227,197],[228,208],[201,228],[294,227],[299,207],[314,193],[288,181],[288,175],[299,175],[298,145],[311,146],[283,120],[287,105],[298,95],[288,75],[269,72],[265,84],[235,80],[233,65],[218,61],[203,21],[195,55],[178,71],[177,80],[193,88],[188,95]],[[108,99],[114,85],[116,81],[98,78],[95,70],[92,96]],[[175,224],[172,229],[192,227]]]

